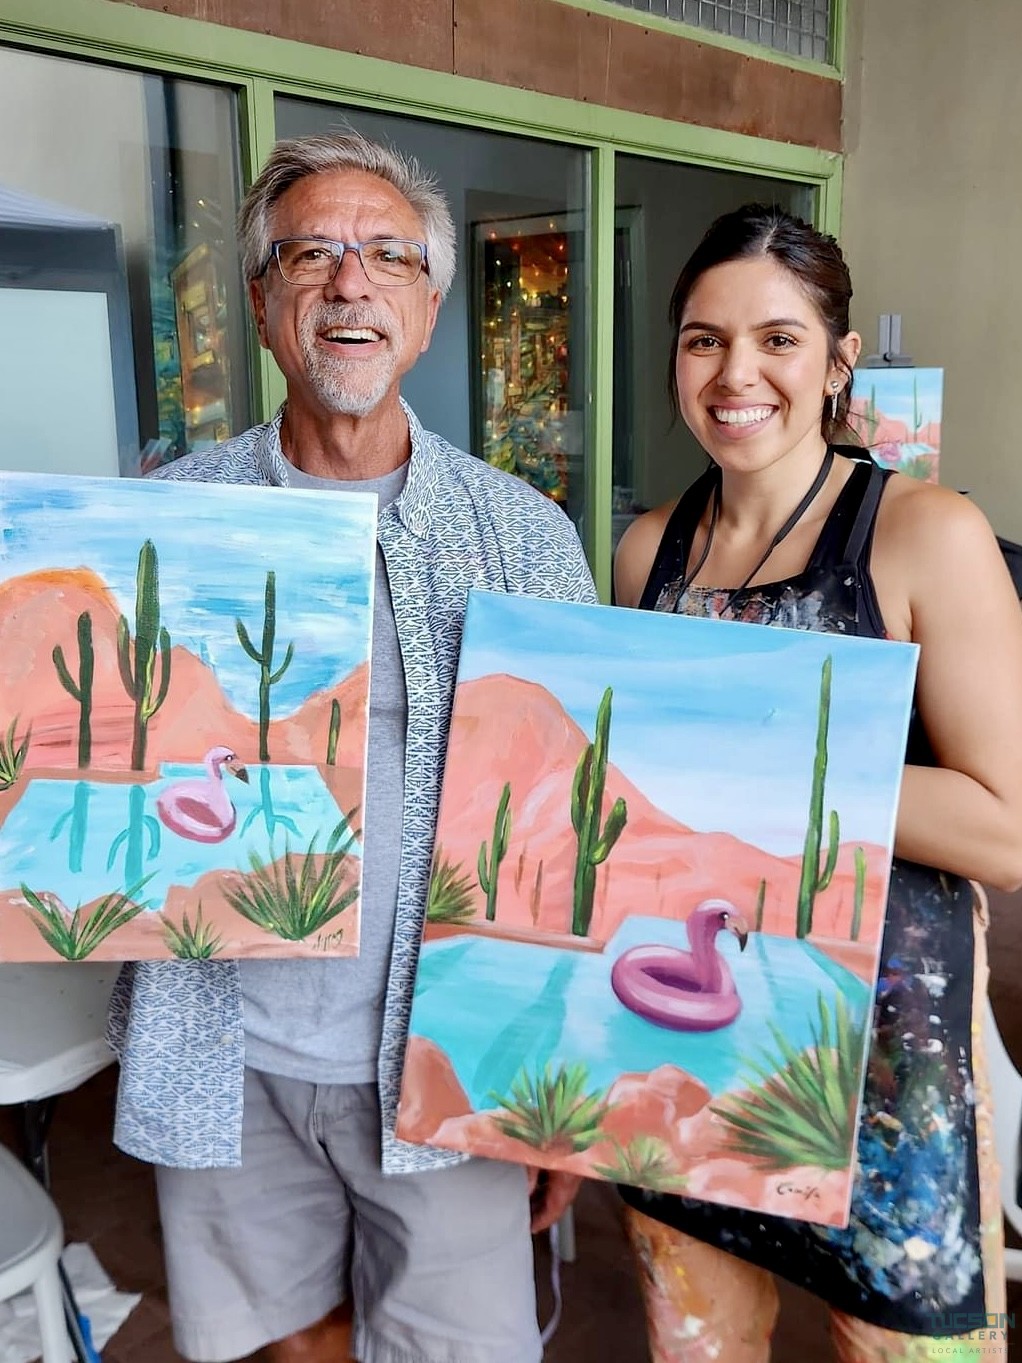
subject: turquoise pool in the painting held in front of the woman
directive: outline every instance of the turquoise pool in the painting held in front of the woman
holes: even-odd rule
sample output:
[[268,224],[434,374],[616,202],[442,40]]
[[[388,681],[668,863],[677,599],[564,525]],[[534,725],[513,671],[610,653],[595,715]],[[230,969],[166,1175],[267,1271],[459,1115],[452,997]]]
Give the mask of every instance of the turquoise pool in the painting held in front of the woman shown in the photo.
[[525,1067],[585,1062],[593,1088],[628,1071],[676,1065],[714,1096],[737,1088],[749,1060],[773,1050],[773,1021],[800,1050],[812,1044],[819,995],[831,1017],[838,995],[857,1020],[868,1015],[869,988],[823,953],[790,938],[751,934],[744,953],[726,932],[717,938],[743,1000],[739,1017],[717,1032],[672,1032],[625,1009],[610,988],[623,951],[645,942],[688,946],[684,923],[631,917],[602,954],[482,936],[427,942],[418,966],[412,1030],[447,1054],[474,1108],[507,1093]]

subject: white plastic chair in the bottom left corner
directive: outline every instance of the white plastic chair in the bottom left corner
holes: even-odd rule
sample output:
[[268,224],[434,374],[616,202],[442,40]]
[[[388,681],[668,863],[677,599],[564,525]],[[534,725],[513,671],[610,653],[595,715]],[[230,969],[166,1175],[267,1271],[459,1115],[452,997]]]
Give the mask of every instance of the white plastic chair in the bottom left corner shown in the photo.
[[67,1363],[71,1349],[57,1269],[63,1244],[57,1209],[25,1165],[0,1145],[0,1302],[31,1288],[42,1363]]

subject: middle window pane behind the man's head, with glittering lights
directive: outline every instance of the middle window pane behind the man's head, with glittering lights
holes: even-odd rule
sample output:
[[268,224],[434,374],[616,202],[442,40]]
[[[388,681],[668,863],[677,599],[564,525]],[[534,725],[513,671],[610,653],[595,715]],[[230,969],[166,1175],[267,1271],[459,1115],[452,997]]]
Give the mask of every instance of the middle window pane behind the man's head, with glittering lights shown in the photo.
[[279,136],[349,121],[436,174],[459,269],[402,393],[422,424],[582,525],[587,153],[425,119],[277,99]]

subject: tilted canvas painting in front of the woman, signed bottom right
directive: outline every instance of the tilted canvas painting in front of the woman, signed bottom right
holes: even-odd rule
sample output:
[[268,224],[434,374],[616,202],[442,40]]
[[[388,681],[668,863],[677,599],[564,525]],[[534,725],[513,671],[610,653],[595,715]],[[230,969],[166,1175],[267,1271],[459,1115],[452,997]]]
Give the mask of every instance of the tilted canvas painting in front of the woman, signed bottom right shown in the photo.
[[473,592],[398,1134],[845,1225],[916,653]]

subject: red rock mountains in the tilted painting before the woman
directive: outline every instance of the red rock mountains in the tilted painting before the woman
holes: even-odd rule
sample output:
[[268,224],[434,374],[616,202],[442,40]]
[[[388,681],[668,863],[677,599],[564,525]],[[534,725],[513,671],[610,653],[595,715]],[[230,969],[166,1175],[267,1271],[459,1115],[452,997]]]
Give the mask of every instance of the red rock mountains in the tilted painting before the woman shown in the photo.
[[[511,836],[500,867],[497,923],[506,928],[568,932],[575,867],[571,785],[587,735],[544,687],[492,675],[458,687],[437,830],[439,856],[461,863],[474,887],[477,917],[485,897],[476,879],[480,842],[511,782]],[[615,736],[610,726],[610,755]],[[606,940],[631,915],[684,919],[704,898],[730,900],[752,923],[766,880],[763,931],[794,934],[800,856],[779,857],[729,833],[699,833],[658,810],[613,762],[604,816],[617,796],[628,822],[597,870],[591,932]],[[767,800],[769,792],[763,792]],[[860,943],[879,939],[888,859],[867,845],[867,893]],[[842,844],[830,886],[815,904],[814,936],[848,940],[854,900],[854,845]]]

